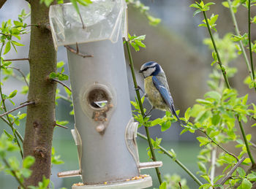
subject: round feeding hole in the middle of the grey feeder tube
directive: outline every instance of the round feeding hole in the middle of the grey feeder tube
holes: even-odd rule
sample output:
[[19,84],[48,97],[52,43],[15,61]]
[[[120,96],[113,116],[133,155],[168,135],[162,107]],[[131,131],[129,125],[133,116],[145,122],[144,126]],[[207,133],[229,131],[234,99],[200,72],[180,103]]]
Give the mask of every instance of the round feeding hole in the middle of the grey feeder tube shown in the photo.
[[105,90],[96,88],[89,92],[88,100],[91,107],[101,109],[108,104],[109,97]]

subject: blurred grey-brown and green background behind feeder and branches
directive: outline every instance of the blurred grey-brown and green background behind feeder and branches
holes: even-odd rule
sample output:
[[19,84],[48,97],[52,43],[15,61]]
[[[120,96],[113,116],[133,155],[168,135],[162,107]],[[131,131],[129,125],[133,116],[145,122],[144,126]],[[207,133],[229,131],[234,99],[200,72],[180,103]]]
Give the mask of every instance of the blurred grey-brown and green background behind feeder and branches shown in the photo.
[[[208,37],[207,31],[204,28],[198,28],[203,18],[198,15],[192,17],[193,10],[189,7],[193,1],[179,1],[179,0],[143,0],[147,6],[151,8],[151,13],[157,18],[162,19],[162,23],[157,27],[149,26],[148,20],[138,12],[138,10],[129,7],[129,33],[136,34],[137,36],[146,34],[146,49],[140,50],[139,53],[135,53],[132,50],[132,55],[135,61],[136,69],[139,69],[141,64],[146,61],[157,61],[161,64],[167,75],[168,83],[170,85],[170,92],[176,104],[176,109],[181,109],[181,115],[184,111],[195,104],[195,99],[202,98],[203,94],[208,90],[206,80],[208,80],[208,74],[211,72],[211,53],[203,45],[203,39]],[[8,0],[4,7],[0,9],[0,21],[8,19],[16,19],[21,9],[29,11],[29,7],[23,0]],[[222,37],[226,32],[233,31],[233,26],[230,21],[230,13],[228,9],[222,7],[221,4],[213,6],[212,11],[215,14],[219,14],[222,19],[217,22],[219,35]],[[211,15],[211,12],[208,13]],[[243,9],[238,13],[238,23],[241,23],[241,31],[246,28],[244,19],[245,17]],[[27,20],[29,23],[30,20]],[[255,29],[252,28],[252,39],[255,39]],[[29,52],[29,34],[23,36],[20,41],[25,47],[18,47],[18,53],[12,51],[5,58],[26,58]],[[208,59],[209,58],[209,59]],[[67,54],[64,47],[60,47],[58,51],[58,61],[64,61],[66,63],[65,73],[68,74],[67,68]],[[234,62],[238,66],[238,74],[241,78],[245,78],[246,68],[238,61]],[[20,61],[14,63],[26,74],[29,72],[29,63],[26,61]],[[129,91],[130,98],[134,100],[135,91],[132,84],[132,77],[128,70]],[[18,73],[15,72],[16,75]],[[244,76],[244,77],[243,77]],[[1,76],[2,77],[2,76]],[[139,79],[139,85],[143,86],[143,80],[141,76],[137,76]],[[231,80],[232,85],[241,91],[240,95],[243,96],[249,93],[248,88],[244,85],[243,80]],[[67,82],[69,85],[69,82]],[[20,91],[23,82],[19,80],[10,79],[5,84],[4,93],[10,93],[13,88]],[[59,86],[61,94],[65,95],[62,86]],[[256,96],[252,96],[249,101],[255,101]],[[15,99],[16,104],[26,101],[26,96],[20,95]],[[56,119],[68,120],[67,125],[69,129],[55,128],[53,136],[53,147],[55,147],[56,155],[61,155],[61,160],[64,164],[53,165],[52,177],[56,188],[66,187],[71,188],[71,185],[76,182],[80,182],[79,177],[70,178],[58,178],[56,175],[59,171],[75,170],[78,169],[78,152],[75,146],[75,142],[72,139],[70,129],[73,128],[74,120],[69,112],[72,110],[69,103],[66,101],[58,100],[58,107],[56,107]],[[149,104],[146,101],[145,107],[148,108]],[[25,112],[22,109],[21,112]],[[164,112],[154,110],[152,119],[164,115]],[[20,124],[18,128],[20,133],[23,134],[25,127],[25,120]],[[0,131],[7,129],[4,122],[0,122]],[[144,132],[143,128],[139,129],[140,132]],[[194,174],[197,172],[197,154],[199,152],[198,142],[195,140],[196,134],[183,134],[179,135],[181,128],[173,124],[169,130],[165,133],[160,131],[159,126],[149,128],[152,138],[163,138],[162,146],[167,150],[173,149],[178,160],[186,165]],[[248,132],[248,130],[246,131]],[[253,132],[253,131],[249,131]],[[253,140],[253,139],[252,139]],[[138,149],[140,153],[140,162],[148,161],[146,148],[147,142],[138,139]],[[234,151],[231,149],[230,151]],[[19,155],[16,154],[19,158]],[[168,158],[166,155],[158,154],[157,159],[163,161],[164,166],[160,168],[162,174],[180,174],[182,178],[187,179],[189,188],[197,188],[195,182],[182,170],[176,163]],[[1,166],[0,166],[1,167]],[[158,186],[158,180],[154,169],[142,171],[142,174],[150,174],[153,177],[154,187]],[[18,184],[13,177],[4,174],[0,171],[0,188],[12,189],[17,188]],[[153,188],[153,187],[152,187]]]

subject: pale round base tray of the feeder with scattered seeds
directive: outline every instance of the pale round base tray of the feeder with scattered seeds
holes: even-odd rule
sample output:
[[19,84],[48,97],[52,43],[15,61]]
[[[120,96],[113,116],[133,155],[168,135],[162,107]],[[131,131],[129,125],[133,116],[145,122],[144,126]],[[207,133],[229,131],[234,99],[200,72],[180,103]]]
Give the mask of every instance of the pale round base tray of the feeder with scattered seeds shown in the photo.
[[129,180],[124,182],[107,183],[102,185],[73,185],[72,189],[140,189],[148,188],[152,185],[152,178],[150,176],[144,177],[140,180]]

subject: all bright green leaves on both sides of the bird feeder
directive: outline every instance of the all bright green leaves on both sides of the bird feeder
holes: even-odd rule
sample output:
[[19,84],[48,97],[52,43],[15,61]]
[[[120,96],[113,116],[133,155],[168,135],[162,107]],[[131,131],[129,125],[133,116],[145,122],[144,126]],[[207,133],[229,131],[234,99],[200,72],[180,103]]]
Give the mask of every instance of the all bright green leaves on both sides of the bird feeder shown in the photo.
[[[75,9],[79,12],[78,4],[88,5],[91,3],[90,0],[70,0],[74,5]],[[45,3],[49,6],[53,0],[42,0],[41,3]],[[63,1],[57,1],[59,4],[62,4]],[[248,1],[248,0],[234,0],[223,1],[222,5],[233,9],[234,12],[238,11],[239,6],[243,6],[246,9],[250,9],[249,3],[251,6],[254,6],[256,1]],[[218,2],[219,3],[219,2]],[[127,0],[127,4],[132,5],[140,10],[140,12],[148,18],[148,22],[151,25],[156,26],[160,20],[158,18],[154,18],[152,15],[148,13],[148,7],[142,4],[140,1],[135,0]],[[206,15],[206,12],[213,6],[214,2],[208,2],[204,4],[203,1],[200,3],[195,2],[190,7],[195,8],[194,16],[203,13]],[[229,11],[229,10],[227,10]],[[14,99],[18,92],[26,94],[28,93],[28,86],[23,86],[21,91],[12,90],[10,94],[4,94],[2,92],[2,88],[5,86],[5,82],[10,77],[15,77],[18,80],[24,80],[24,78],[17,77],[17,75],[13,72],[12,61],[4,61],[3,55],[6,55],[13,48],[17,51],[18,46],[23,46],[17,40],[20,40],[20,37],[23,34],[28,34],[29,31],[27,28],[28,24],[24,22],[26,18],[28,18],[30,13],[26,13],[24,10],[18,15],[18,20],[7,20],[1,23],[0,27],[0,41],[1,41],[1,50],[0,50],[0,72],[4,74],[3,80],[1,80],[0,85],[0,94],[1,94],[1,104],[0,110],[2,113],[7,112],[5,102],[10,101],[12,106],[15,107]],[[252,146],[252,134],[246,134],[246,138],[244,136],[239,136],[236,132],[237,123],[240,124],[240,128],[243,128],[241,123],[249,123],[249,120],[256,120],[256,105],[254,103],[249,103],[248,98],[249,95],[240,96],[239,91],[235,88],[227,88],[225,86],[225,79],[223,75],[225,75],[228,79],[231,77],[236,77],[237,68],[231,66],[231,63],[241,55],[242,50],[241,46],[239,46],[238,42],[242,42],[244,47],[248,47],[249,44],[252,44],[252,52],[256,53],[256,44],[255,42],[249,41],[249,34],[245,32],[244,34],[230,34],[227,33],[223,38],[220,38],[217,33],[217,20],[219,15],[212,14],[210,18],[206,18],[202,20],[202,23],[199,25],[200,27],[206,27],[209,31],[215,32],[213,35],[213,39],[205,39],[204,44],[208,46],[209,50],[212,50],[211,53],[213,60],[209,60],[209,64],[212,66],[212,72],[209,75],[208,86],[210,90],[203,96],[203,99],[197,99],[196,104],[192,107],[187,108],[187,111],[184,114],[184,117],[181,117],[181,120],[186,124],[181,124],[184,128],[181,131],[181,134],[189,131],[191,133],[200,132],[202,135],[197,136],[198,144],[201,147],[200,153],[197,155],[197,174],[203,180],[203,185],[200,185],[200,188],[229,188],[229,187],[237,187],[241,188],[252,188],[252,183],[256,181],[256,172],[251,169],[253,165],[252,158],[246,158],[242,163],[244,168],[238,167],[236,171],[233,171],[232,177],[228,178],[225,182],[226,185],[219,185],[223,178],[226,177],[230,169],[232,169],[236,163],[237,158],[242,158],[243,156],[249,155],[249,147]],[[256,23],[256,17],[252,17],[249,19],[249,22],[252,24]],[[143,43],[145,39],[145,35],[143,36],[130,36],[129,35],[129,45],[135,48],[136,51],[140,50],[140,47],[145,48],[146,45]],[[215,44],[213,43],[215,42]],[[215,50],[214,45],[216,45],[218,52]],[[203,56],[203,54],[201,55]],[[219,67],[219,60],[222,60],[222,66]],[[50,79],[58,80],[68,80],[68,76],[64,74],[64,62],[59,62],[57,64],[58,72],[52,72],[49,75]],[[29,74],[25,77],[26,80],[29,80]],[[244,80],[244,78],[242,78]],[[244,80],[246,85],[249,85],[249,88],[255,88],[255,80],[252,77],[248,76]],[[65,96],[62,96],[59,93],[59,90],[56,92],[56,100],[63,99],[70,103],[72,106],[72,93],[65,88]],[[144,101],[144,97],[142,98],[142,102]],[[133,111],[133,115],[135,120],[138,121],[139,126],[153,127],[160,126],[161,131],[166,131],[170,128],[173,123],[177,121],[176,117],[173,117],[170,112],[166,112],[164,117],[159,117],[155,120],[150,120],[150,117],[143,117],[140,112],[139,101],[136,99],[132,101],[132,106],[135,107]],[[56,102],[56,104],[58,104]],[[143,109],[144,112],[146,109]],[[179,111],[176,112],[177,115]],[[74,112],[70,112],[71,115]],[[23,183],[23,180],[28,178],[31,175],[31,171],[29,167],[34,164],[34,158],[31,156],[27,156],[23,159],[23,163],[21,166],[21,160],[16,158],[16,156],[11,156],[12,153],[20,153],[22,156],[22,149],[20,143],[23,142],[22,137],[20,136],[18,129],[16,127],[20,127],[20,120],[26,117],[25,113],[9,113],[5,115],[5,117],[1,117],[7,126],[11,128],[12,132],[8,132],[7,130],[3,130],[3,134],[0,137],[0,170],[5,171],[7,174],[15,177],[18,182]],[[238,117],[238,122],[236,118]],[[65,120],[56,120],[56,123],[60,125],[65,125],[68,122]],[[251,124],[251,126],[256,126],[256,123]],[[157,150],[159,153],[163,153],[160,148],[160,144],[162,142],[161,138],[151,139],[151,143],[153,144],[154,150]],[[229,153],[225,150],[222,145],[228,144],[230,142],[236,142],[235,147],[238,149],[238,156]],[[222,152],[217,154],[216,157],[212,157],[214,153],[212,153],[217,147],[219,147]],[[177,154],[174,150],[167,150],[167,153],[170,153],[173,161],[176,161]],[[56,155],[55,149],[52,149],[52,163],[60,164],[64,163],[60,159],[60,155]],[[148,148],[148,158],[152,158],[151,151]],[[188,157],[189,158],[189,157]],[[212,163],[213,159],[216,158],[215,163]],[[222,169],[222,174],[215,175],[212,177],[211,171],[214,170],[213,166],[219,167]],[[247,171],[246,169],[249,169]],[[37,187],[31,186],[31,189],[42,189],[48,188],[50,184],[50,180],[44,178],[42,182],[39,182]],[[229,185],[229,186],[227,186]],[[52,185],[53,186],[53,185]],[[165,188],[189,188],[187,186],[187,181],[181,179],[177,174],[173,175],[165,175],[165,181],[159,186],[161,189]]]

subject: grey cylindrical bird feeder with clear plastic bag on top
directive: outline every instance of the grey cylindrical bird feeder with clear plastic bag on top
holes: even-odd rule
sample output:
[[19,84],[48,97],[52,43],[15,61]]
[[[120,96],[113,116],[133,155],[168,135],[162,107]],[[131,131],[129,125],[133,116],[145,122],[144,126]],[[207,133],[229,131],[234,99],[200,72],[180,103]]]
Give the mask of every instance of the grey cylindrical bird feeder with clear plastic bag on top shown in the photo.
[[124,0],[94,0],[80,13],[72,4],[50,7],[55,46],[67,47],[80,165],[59,177],[82,176],[73,189],[147,188],[151,177],[140,177],[140,169],[162,165],[138,157],[122,41],[126,9]]

